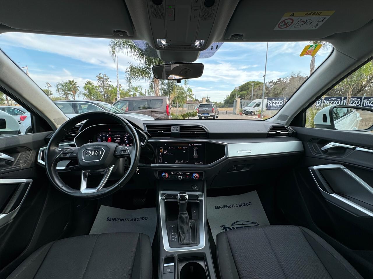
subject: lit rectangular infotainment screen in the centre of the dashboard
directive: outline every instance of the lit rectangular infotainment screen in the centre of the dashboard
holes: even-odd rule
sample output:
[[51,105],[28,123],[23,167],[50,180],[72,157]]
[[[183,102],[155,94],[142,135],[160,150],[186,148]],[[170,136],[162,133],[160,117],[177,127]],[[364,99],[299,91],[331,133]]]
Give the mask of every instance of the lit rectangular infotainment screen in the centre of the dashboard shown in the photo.
[[157,148],[157,164],[203,165],[205,143],[162,143]]

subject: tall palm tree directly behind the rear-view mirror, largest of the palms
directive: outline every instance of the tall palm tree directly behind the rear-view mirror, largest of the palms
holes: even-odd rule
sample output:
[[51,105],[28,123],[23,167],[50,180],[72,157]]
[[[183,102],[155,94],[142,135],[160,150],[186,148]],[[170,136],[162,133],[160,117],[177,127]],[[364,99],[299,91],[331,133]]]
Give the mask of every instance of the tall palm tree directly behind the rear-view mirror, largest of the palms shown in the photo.
[[134,42],[130,40],[110,40],[109,51],[114,60],[117,53],[122,52],[131,56],[139,63],[138,65],[129,64],[126,70],[126,82],[129,86],[131,86],[132,81],[150,80],[150,87],[154,87],[154,95],[159,96],[159,80],[153,76],[152,67],[154,65],[164,64],[160,58],[146,56]]

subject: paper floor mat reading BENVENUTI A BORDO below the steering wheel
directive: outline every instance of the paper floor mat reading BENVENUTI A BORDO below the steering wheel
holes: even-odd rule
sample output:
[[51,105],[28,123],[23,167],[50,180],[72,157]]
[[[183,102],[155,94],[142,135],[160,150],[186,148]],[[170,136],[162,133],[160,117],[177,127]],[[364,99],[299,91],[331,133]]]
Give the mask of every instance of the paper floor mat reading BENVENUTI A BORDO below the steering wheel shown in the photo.
[[106,232],[142,232],[153,243],[157,227],[157,209],[141,208],[126,210],[101,205],[90,234]]

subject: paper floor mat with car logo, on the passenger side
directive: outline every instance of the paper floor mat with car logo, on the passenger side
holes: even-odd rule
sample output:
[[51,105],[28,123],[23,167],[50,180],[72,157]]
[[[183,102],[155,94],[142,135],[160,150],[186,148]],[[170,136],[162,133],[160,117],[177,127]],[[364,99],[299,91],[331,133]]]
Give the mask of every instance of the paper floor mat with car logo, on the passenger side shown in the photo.
[[207,219],[214,240],[222,231],[269,225],[256,191],[235,196],[208,197]]

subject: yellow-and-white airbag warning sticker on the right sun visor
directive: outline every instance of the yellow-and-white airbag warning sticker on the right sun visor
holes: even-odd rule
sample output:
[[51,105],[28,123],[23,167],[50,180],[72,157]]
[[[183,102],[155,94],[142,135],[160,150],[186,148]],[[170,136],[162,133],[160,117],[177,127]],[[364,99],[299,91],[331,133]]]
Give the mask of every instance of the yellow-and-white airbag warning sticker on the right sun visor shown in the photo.
[[273,30],[316,30],[335,11],[285,13]]

